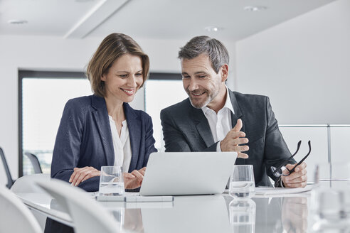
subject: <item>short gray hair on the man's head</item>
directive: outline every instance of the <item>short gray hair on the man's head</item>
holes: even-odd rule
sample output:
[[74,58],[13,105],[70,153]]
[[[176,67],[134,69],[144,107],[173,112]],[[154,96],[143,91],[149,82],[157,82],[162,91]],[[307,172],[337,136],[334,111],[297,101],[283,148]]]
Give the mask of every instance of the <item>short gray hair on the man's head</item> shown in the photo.
[[218,73],[221,66],[228,65],[230,58],[228,51],[219,40],[210,38],[209,36],[196,36],[192,38],[186,45],[180,48],[180,59],[192,59],[198,55],[206,53],[211,60],[213,70]]

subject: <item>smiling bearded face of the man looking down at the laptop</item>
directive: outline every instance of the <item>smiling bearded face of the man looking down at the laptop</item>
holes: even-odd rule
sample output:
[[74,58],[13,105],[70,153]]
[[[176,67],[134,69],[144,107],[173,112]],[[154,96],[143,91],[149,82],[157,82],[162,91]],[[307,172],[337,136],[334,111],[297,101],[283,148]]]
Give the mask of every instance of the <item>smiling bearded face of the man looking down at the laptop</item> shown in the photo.
[[216,97],[225,88],[227,73],[223,75],[221,69],[216,74],[206,54],[192,59],[182,59],[181,70],[184,89],[189,94],[192,106],[198,109],[204,106],[215,108],[221,101]]

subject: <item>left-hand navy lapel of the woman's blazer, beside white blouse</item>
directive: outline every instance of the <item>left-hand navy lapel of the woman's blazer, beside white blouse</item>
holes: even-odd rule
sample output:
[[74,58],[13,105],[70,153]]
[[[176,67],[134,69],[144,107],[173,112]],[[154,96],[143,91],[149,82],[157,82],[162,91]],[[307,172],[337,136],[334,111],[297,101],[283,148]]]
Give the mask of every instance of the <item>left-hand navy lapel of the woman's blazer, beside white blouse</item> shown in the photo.
[[113,148],[112,132],[110,131],[110,120],[108,119],[105,99],[93,95],[92,107],[96,109],[95,112],[92,112],[92,115],[95,118],[95,124],[97,125],[97,129],[102,139],[107,166],[113,166],[115,163],[115,151]]

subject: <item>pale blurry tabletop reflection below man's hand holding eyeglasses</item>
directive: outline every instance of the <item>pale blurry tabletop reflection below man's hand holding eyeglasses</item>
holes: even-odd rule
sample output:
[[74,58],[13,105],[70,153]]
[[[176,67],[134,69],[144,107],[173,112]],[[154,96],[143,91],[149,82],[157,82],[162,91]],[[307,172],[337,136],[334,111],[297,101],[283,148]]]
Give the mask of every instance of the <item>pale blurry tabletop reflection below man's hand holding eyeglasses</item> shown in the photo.
[[285,232],[307,232],[307,197],[283,197],[282,202]]

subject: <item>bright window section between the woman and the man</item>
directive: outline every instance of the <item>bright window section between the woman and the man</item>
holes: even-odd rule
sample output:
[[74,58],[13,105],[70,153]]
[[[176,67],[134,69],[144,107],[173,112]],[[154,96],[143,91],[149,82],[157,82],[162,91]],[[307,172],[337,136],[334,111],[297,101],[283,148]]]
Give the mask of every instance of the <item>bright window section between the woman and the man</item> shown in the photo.
[[161,128],[161,109],[181,102],[188,96],[182,86],[180,74],[152,73],[145,84],[145,111],[152,117],[155,147],[164,151],[163,131]]

